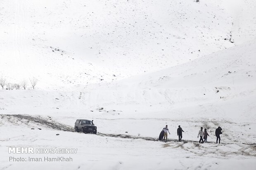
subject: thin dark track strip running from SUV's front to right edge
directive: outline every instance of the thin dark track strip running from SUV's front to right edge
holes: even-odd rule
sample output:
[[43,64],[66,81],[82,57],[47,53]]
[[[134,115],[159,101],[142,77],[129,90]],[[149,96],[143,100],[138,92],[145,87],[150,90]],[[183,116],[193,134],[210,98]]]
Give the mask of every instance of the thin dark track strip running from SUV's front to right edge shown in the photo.
[[[159,141],[158,138],[154,138],[154,137],[137,137],[137,136],[132,136],[132,135],[124,135],[124,134],[111,134],[111,133],[100,133],[98,132],[97,135],[100,136],[108,136],[108,137],[120,137],[120,138],[127,138],[127,139],[143,139],[143,140],[150,140],[150,141]],[[176,139],[169,139],[167,140],[167,142],[178,142],[179,140]],[[195,140],[182,140],[183,143],[187,143],[187,142],[195,142],[198,143],[198,141]],[[216,143],[216,142],[207,142],[207,143]],[[237,143],[221,143],[221,144],[237,144]],[[242,144],[247,144],[247,145],[255,145],[256,147],[256,143],[242,143]]]

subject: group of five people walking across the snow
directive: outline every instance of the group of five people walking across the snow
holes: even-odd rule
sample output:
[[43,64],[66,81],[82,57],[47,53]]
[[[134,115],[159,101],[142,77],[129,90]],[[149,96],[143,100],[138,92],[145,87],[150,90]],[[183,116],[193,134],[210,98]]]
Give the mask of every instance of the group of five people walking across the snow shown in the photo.
[[[210,136],[209,133],[207,132],[207,129],[204,129],[204,131],[203,131],[203,129],[204,128],[201,127],[201,129],[199,130],[198,135],[197,135],[197,138],[200,136],[199,143],[207,142],[207,137]],[[217,137],[216,143],[218,143],[218,141],[220,143],[220,134],[222,134],[221,130],[222,130],[222,128],[220,128],[220,126],[215,130],[215,135]],[[182,132],[184,132],[184,131],[182,130],[182,128],[179,125],[178,129],[177,129],[177,135],[179,137],[179,142],[182,139]],[[161,137],[162,133],[163,133],[164,141],[167,141],[167,135],[168,135],[167,133],[171,134],[169,132],[167,125],[163,128],[162,132],[160,133],[159,140],[163,139],[163,137]]]

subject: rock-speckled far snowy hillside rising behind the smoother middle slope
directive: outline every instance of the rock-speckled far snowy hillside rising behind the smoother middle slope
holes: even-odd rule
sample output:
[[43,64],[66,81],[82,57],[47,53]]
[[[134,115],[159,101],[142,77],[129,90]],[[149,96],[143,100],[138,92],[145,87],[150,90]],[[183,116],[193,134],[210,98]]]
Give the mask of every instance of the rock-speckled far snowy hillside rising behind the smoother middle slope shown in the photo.
[[[240,32],[232,32],[236,22],[223,2],[4,0],[1,75],[13,82],[36,77],[43,88],[185,63],[236,43]],[[243,37],[254,39],[253,24],[239,23],[244,27]]]

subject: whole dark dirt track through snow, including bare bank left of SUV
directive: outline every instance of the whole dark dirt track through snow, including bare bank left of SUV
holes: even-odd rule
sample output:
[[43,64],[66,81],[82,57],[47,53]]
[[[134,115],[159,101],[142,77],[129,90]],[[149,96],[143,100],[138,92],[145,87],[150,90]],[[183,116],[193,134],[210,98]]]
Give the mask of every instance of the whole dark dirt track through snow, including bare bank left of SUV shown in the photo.
[[[65,125],[63,123],[59,123],[56,121],[53,121],[50,116],[31,116],[31,115],[24,115],[24,114],[0,114],[0,118],[2,121],[8,121],[10,123],[14,124],[26,124],[29,125],[29,123],[36,124],[40,128],[50,128],[54,130],[62,130],[62,131],[68,131],[68,132],[75,132],[74,128],[68,125]],[[1,122],[2,122],[1,121]],[[0,123],[1,123],[0,122]],[[119,137],[119,138],[127,138],[127,139],[141,139],[141,140],[147,140],[147,141],[159,141],[156,137],[142,137],[142,136],[133,136],[133,135],[124,135],[124,134],[109,134],[109,133],[100,133],[98,132],[97,135],[104,136],[104,137]],[[177,148],[180,147],[182,149],[185,149],[189,151],[190,147],[185,146],[185,144],[190,143],[193,146],[192,147],[200,147],[200,144],[198,141],[194,140],[182,140],[182,142],[178,142],[178,140],[175,139],[168,139],[166,143],[163,144],[163,147],[173,147]],[[214,142],[208,142],[209,144],[214,144]],[[247,143],[222,143],[221,145],[232,145],[236,144],[241,149],[237,150],[237,152],[233,154],[238,155],[247,155],[247,156],[256,156],[256,144],[247,144]],[[250,152],[247,150],[251,150]]]

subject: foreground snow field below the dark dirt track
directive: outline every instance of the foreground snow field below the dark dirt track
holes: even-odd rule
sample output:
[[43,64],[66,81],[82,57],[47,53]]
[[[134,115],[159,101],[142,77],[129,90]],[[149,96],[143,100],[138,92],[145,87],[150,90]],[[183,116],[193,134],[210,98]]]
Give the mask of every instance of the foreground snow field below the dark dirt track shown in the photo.
[[[13,169],[90,169],[90,170],[163,170],[163,169],[253,169],[255,154],[241,144],[207,144],[154,142],[146,140],[122,139],[62,132],[33,126],[12,125],[10,135],[2,135],[0,152],[8,156],[27,158],[71,157],[72,162],[7,162],[1,160],[1,168]],[[40,126],[39,126],[40,127]],[[8,124],[1,126],[7,130]],[[21,130],[18,130],[18,129]],[[56,135],[59,134],[59,135]],[[57,142],[61,141],[61,142]],[[34,148],[76,148],[77,154],[7,154],[6,147],[31,146]],[[250,152],[251,151],[251,152]]]

